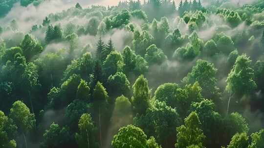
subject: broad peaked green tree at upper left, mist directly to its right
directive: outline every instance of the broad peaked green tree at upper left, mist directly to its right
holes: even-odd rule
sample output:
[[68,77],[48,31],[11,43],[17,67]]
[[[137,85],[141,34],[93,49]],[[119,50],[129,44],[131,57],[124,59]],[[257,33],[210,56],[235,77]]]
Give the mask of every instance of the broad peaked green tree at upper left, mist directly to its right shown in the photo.
[[20,47],[22,48],[23,55],[26,57],[27,61],[43,51],[43,47],[39,41],[30,34],[25,35],[24,39],[20,43]]

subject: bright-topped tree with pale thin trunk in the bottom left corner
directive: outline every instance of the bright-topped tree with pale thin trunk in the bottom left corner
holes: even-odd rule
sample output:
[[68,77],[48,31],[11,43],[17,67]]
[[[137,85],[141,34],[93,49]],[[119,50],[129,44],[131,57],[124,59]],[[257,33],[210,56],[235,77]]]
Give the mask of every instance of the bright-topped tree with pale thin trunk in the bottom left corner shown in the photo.
[[22,101],[16,101],[10,109],[9,116],[14,120],[18,129],[22,132],[25,148],[27,148],[26,134],[35,126],[35,115],[30,113],[29,109]]

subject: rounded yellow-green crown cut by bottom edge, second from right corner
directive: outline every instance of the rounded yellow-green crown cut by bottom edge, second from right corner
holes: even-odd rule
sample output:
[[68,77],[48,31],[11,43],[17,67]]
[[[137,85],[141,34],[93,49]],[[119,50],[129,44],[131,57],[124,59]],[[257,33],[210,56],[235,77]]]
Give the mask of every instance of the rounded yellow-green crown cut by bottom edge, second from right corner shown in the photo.
[[236,133],[227,148],[248,148],[248,136],[246,133]]

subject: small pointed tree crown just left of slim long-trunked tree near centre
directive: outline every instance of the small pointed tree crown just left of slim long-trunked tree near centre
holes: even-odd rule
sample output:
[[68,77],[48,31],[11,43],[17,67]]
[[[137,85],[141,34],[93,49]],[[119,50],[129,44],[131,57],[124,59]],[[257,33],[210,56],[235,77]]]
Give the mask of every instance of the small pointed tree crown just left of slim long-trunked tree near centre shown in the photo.
[[88,101],[89,97],[90,88],[88,86],[88,83],[82,79],[77,89],[76,98],[83,101]]

